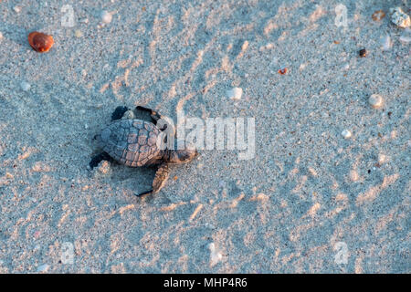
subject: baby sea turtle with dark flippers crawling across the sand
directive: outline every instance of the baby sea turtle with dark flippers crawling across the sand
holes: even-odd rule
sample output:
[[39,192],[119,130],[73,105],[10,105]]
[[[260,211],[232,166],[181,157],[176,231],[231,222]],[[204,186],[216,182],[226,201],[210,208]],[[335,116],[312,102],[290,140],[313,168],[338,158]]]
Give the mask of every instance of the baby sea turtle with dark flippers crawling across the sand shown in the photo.
[[167,129],[167,126],[171,127],[170,124],[164,123],[162,128],[158,127],[157,122],[159,120],[163,122],[163,116],[154,110],[140,106],[136,110],[148,111],[153,122],[139,119],[121,119],[127,110],[130,109],[117,107],[111,115],[111,124],[102,130],[100,135],[94,137],[95,140],[100,142],[103,152],[91,159],[90,167],[94,168],[103,160],[115,160],[130,167],[158,165],[153,180],[153,188],[135,195],[158,193],[168,179],[170,172],[168,164],[191,162],[198,155],[198,152],[193,147],[182,150],[177,150],[175,147],[166,147],[161,150],[161,147],[159,147],[161,143],[157,143],[157,140],[163,139],[163,135],[160,134]]

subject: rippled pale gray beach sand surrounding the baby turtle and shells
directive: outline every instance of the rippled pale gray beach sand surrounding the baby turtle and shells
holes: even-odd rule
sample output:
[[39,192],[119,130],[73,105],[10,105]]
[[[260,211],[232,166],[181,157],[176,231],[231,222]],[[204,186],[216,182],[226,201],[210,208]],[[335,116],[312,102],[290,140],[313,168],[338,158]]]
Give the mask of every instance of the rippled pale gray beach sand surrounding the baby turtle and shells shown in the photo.
[[[76,24],[62,26],[70,3]],[[0,271],[411,272],[410,47],[395,6],[409,14],[395,0],[2,1]],[[48,53],[27,44],[33,30],[54,36]],[[88,170],[112,110],[137,104],[253,117],[256,157],[201,151],[137,199],[153,170]]]

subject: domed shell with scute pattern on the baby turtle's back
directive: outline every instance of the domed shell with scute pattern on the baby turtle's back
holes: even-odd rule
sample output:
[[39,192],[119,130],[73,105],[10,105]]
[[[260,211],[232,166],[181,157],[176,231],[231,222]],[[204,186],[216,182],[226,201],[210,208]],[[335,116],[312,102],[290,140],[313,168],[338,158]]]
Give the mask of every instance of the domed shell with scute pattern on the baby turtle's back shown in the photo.
[[160,130],[145,120],[115,120],[101,131],[103,150],[120,162],[138,167],[160,156],[156,141]]

